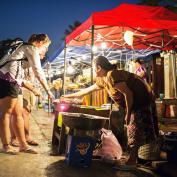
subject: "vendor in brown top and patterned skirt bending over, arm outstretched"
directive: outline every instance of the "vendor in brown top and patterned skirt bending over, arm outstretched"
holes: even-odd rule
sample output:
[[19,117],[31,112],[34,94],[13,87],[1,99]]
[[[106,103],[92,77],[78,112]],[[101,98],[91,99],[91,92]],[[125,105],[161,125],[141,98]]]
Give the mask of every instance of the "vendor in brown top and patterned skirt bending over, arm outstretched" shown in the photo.
[[[157,121],[152,109],[152,92],[139,76],[118,70],[107,58],[99,56],[94,60],[96,83],[79,92],[65,95],[65,98],[80,97],[92,91],[105,88],[109,96],[126,110],[125,123],[129,145],[129,158],[122,168],[135,166],[138,148],[155,140],[158,134]],[[122,163],[121,163],[122,164]]]

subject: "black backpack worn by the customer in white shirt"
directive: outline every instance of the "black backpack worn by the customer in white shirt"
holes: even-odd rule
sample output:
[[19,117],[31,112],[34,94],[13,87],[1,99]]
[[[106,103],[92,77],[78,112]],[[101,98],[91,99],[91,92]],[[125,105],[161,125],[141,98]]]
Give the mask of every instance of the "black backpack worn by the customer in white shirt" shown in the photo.
[[21,38],[0,41],[0,68],[12,61],[10,56],[23,44],[24,41]]

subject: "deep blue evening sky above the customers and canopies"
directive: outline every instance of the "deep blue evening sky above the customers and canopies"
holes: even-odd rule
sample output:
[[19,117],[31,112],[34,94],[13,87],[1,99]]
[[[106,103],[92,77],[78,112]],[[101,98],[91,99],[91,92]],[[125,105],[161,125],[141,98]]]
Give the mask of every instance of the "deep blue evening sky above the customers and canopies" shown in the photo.
[[65,29],[74,21],[85,21],[92,12],[109,10],[121,3],[139,0],[1,0],[0,40],[33,33],[47,33],[52,40],[50,50],[61,42]]

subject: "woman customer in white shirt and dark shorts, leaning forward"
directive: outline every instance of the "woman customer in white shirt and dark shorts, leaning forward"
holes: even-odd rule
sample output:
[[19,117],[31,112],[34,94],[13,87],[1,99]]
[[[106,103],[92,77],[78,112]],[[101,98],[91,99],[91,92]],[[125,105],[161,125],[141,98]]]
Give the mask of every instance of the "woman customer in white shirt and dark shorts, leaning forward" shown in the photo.
[[[9,145],[9,119],[13,113],[16,117],[13,123],[16,137],[20,143],[20,152],[36,153],[29,148],[24,135],[24,125],[22,119],[22,97],[21,86],[28,85],[23,81],[23,66],[32,67],[35,77],[46,90],[49,98],[53,95],[49,90],[44,72],[41,68],[40,59],[45,56],[51,41],[46,34],[33,34],[27,44],[20,46],[11,56],[8,62],[0,68],[0,135],[3,144],[3,151],[15,153],[13,147]],[[16,61],[17,59],[25,59]]]

